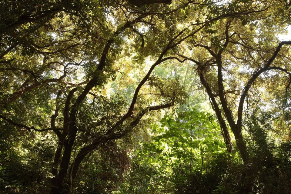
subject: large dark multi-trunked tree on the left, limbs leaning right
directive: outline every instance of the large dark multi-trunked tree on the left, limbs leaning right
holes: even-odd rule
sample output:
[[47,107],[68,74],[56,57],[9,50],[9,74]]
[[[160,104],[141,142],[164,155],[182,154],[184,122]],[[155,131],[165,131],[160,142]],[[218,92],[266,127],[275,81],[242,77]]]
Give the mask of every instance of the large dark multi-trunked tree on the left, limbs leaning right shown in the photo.
[[[93,4],[95,3],[95,4]],[[97,3],[97,4],[96,4]],[[98,5],[101,2],[92,2],[92,5]],[[90,4],[89,4],[90,5]],[[86,6],[89,6],[86,5]],[[15,102],[17,99],[25,95],[27,92],[31,91],[32,89],[35,89],[42,84],[48,84],[51,82],[60,83],[55,85],[48,85],[50,87],[50,90],[52,90],[52,94],[55,94],[55,110],[51,116],[51,122],[50,127],[45,129],[38,129],[39,127],[34,126],[28,126],[25,124],[20,124],[19,122],[12,120],[8,118],[6,115],[1,115],[1,119],[4,121],[15,125],[17,127],[21,127],[27,130],[35,130],[38,132],[43,131],[50,131],[52,130],[55,135],[57,135],[59,139],[59,143],[55,152],[55,158],[54,163],[52,167],[52,176],[54,178],[52,179],[52,192],[65,192],[64,189],[64,182],[65,178],[70,177],[70,186],[72,187],[72,179],[75,178],[76,173],[78,171],[79,165],[81,164],[84,157],[92,152],[94,149],[96,149],[98,146],[100,146],[103,143],[112,141],[114,139],[122,138],[123,136],[127,135],[132,129],[137,125],[140,121],[140,119],[145,115],[147,112],[152,110],[159,110],[163,108],[169,108],[174,105],[174,102],[181,101],[184,98],[183,92],[179,88],[179,84],[175,82],[175,80],[172,82],[168,82],[166,84],[162,84],[162,82],[155,82],[153,83],[152,87],[156,87],[160,94],[159,96],[162,97],[161,104],[158,103],[158,100],[156,100],[156,105],[150,105],[152,103],[146,103],[149,105],[146,105],[145,103],[142,103],[142,99],[139,97],[139,92],[142,88],[142,86],[148,81],[150,78],[150,75],[155,68],[155,66],[159,65],[160,63],[170,60],[170,59],[176,59],[174,57],[164,57],[166,55],[166,52],[170,50],[171,48],[178,45],[176,43],[175,45],[172,45],[172,42],[176,40],[176,38],[179,37],[179,34],[177,36],[174,36],[169,40],[168,45],[166,45],[165,48],[161,49],[161,53],[159,54],[159,57],[157,58],[156,62],[152,65],[152,67],[149,69],[148,73],[146,73],[145,77],[143,77],[140,80],[140,83],[137,85],[135,92],[133,93],[132,100],[129,103],[124,103],[122,100],[118,101],[111,101],[111,100],[101,100],[97,101],[95,99],[102,99],[104,97],[99,96],[99,92],[94,92],[92,89],[94,88],[97,90],[98,86],[105,85],[109,82],[109,79],[114,80],[114,61],[118,60],[117,54],[121,52],[120,49],[117,47],[124,43],[125,41],[119,37],[119,35],[122,34],[122,36],[129,36],[132,35],[132,33],[129,33],[128,30],[131,30],[131,32],[137,34],[139,37],[142,38],[142,41],[144,41],[144,38],[140,32],[138,32],[134,26],[139,23],[148,23],[152,25],[151,21],[153,20],[153,15],[149,17],[149,13],[137,13],[137,14],[131,14],[131,15],[124,15],[124,10],[122,5],[113,4],[114,6],[109,6],[104,4],[102,7],[99,5],[99,9],[96,10],[95,13],[89,13],[92,20],[92,25],[90,26],[89,33],[85,33],[85,30],[87,28],[80,28],[82,26],[75,25],[75,28],[72,28],[72,23],[75,23],[75,20],[79,20],[81,18],[75,18],[71,15],[66,15],[65,13],[61,12],[61,21],[59,22],[60,29],[53,29],[53,32],[59,32],[59,34],[53,34],[52,32],[46,31],[46,26],[43,26],[42,28],[38,28],[40,32],[45,30],[45,34],[42,34],[40,37],[43,40],[39,40],[35,38],[35,41],[41,42],[43,45],[36,45],[32,43],[29,45],[29,48],[33,48],[36,53],[30,52],[30,53],[15,53],[18,55],[18,58],[12,58],[10,56],[9,51],[14,51],[14,47],[17,46],[15,43],[12,44],[12,47],[6,49],[3,52],[3,57],[5,57],[5,60],[2,62],[3,64],[10,64],[11,68],[3,68],[4,73],[7,73],[9,70],[18,70],[21,74],[29,73],[32,75],[32,78],[26,79],[23,83],[21,83],[19,89],[12,94],[8,95],[7,100],[3,99],[3,105],[11,104],[12,102]],[[109,9],[106,10],[106,9]],[[105,15],[104,12],[105,11]],[[58,10],[61,11],[61,10]],[[71,10],[67,10],[67,12],[71,12]],[[86,13],[87,14],[87,13]],[[116,18],[113,18],[113,14],[115,14]],[[49,23],[47,24],[49,27],[51,27],[50,22],[57,22],[58,17],[53,18],[53,14],[50,16],[52,17],[52,20],[49,20]],[[107,22],[109,22],[109,25],[105,25],[105,23],[100,23],[98,20],[93,21],[93,18],[98,17],[98,19],[101,18],[103,22],[106,21],[106,17],[112,17],[112,20],[109,19]],[[19,25],[26,24],[26,22],[31,22],[30,19],[23,19],[22,18],[30,18],[30,16],[19,16],[17,20],[17,23]],[[31,16],[32,17],[32,16]],[[37,18],[37,16],[33,16]],[[71,18],[73,17],[73,18]],[[42,18],[42,17],[40,17]],[[114,20],[118,22],[114,22]],[[57,21],[56,21],[57,20]],[[37,19],[33,19],[32,22],[37,22]],[[71,22],[72,21],[72,22]],[[97,22],[97,23],[95,23]],[[110,24],[111,23],[111,24]],[[17,25],[11,25],[17,27]],[[10,25],[7,25],[8,29],[6,32],[10,31],[12,27]],[[65,26],[65,27],[63,27]],[[73,26],[74,27],[74,26]],[[65,29],[64,29],[65,28]],[[67,28],[67,29],[66,29]],[[72,28],[72,29],[71,29]],[[96,28],[96,30],[94,29]],[[80,34],[75,36],[74,31],[79,32]],[[103,31],[103,33],[102,33]],[[29,33],[29,32],[28,32]],[[35,34],[34,31],[31,32],[32,36]],[[72,34],[74,33],[74,34]],[[95,37],[97,33],[97,37]],[[99,34],[100,33],[100,34]],[[29,35],[29,34],[28,34]],[[44,38],[44,35],[48,35],[49,39]],[[95,35],[95,36],[93,36]],[[154,34],[153,34],[154,35]],[[8,35],[7,35],[8,36]],[[54,37],[55,36],[55,37]],[[63,38],[65,37],[65,38]],[[106,38],[109,37],[109,38]],[[55,42],[54,39],[60,39],[61,41]],[[83,41],[84,40],[84,41]],[[44,42],[48,41],[49,44],[45,45]],[[92,41],[94,44],[92,44]],[[98,42],[99,41],[99,42]],[[72,42],[72,45],[67,46],[68,43]],[[88,45],[89,44],[89,45]],[[103,45],[104,46],[101,46]],[[61,49],[55,49],[55,45],[61,45],[63,48]],[[78,48],[78,46],[80,46]],[[51,48],[52,47],[52,48]],[[72,50],[72,48],[77,47],[77,50]],[[99,47],[103,47],[103,49],[100,49]],[[112,49],[111,53],[109,51]],[[92,49],[93,48],[93,49]],[[96,48],[96,49],[95,49]],[[124,48],[124,46],[122,47]],[[156,47],[157,49],[160,49],[159,47]],[[19,49],[19,48],[17,48]],[[20,49],[22,49],[20,47]],[[25,48],[24,48],[25,50]],[[51,51],[52,50],[52,51]],[[146,50],[146,49],[145,49]],[[66,53],[69,53],[70,55],[74,55],[74,58],[72,58],[70,55],[65,55]],[[90,53],[90,54],[89,54]],[[57,54],[57,55],[56,55]],[[23,68],[22,66],[20,68],[15,68],[14,62],[19,62],[19,57],[24,56],[30,64],[32,64],[32,59],[29,57],[26,57],[27,55],[31,55],[33,58],[35,58],[36,61],[42,60],[42,65],[36,65],[36,67],[28,66],[28,69]],[[60,56],[58,56],[60,55]],[[97,56],[95,56],[97,55]],[[6,58],[8,58],[6,60]],[[21,58],[20,58],[21,59]],[[69,60],[69,62],[65,61]],[[72,61],[72,62],[70,62]],[[53,66],[54,65],[54,66]],[[77,73],[77,68],[75,67],[84,67],[85,71],[88,71],[88,73],[85,75],[87,79],[83,80],[79,83],[68,83],[68,82],[62,82],[62,79],[65,77],[71,77],[74,79],[74,74]],[[59,78],[47,78],[44,77],[46,73],[49,73],[49,76],[52,76],[53,74],[58,74],[59,67],[63,67],[62,73]],[[37,69],[36,69],[37,68]],[[38,70],[40,68],[40,70]],[[70,69],[69,72],[67,69]],[[52,72],[52,73],[51,73]],[[69,74],[70,73],[70,74]],[[69,76],[67,75],[69,74]],[[48,77],[49,77],[48,76]],[[18,78],[21,78],[20,76],[17,76]],[[34,80],[33,80],[34,78]],[[4,76],[4,79],[5,78]],[[38,81],[39,79],[39,81]],[[9,80],[9,79],[8,79]],[[84,87],[82,87],[84,85]],[[81,87],[78,87],[81,86]],[[71,89],[72,88],[72,89]],[[164,90],[166,89],[166,90]],[[9,91],[9,89],[8,89]],[[92,91],[92,92],[91,92]],[[67,92],[67,95],[65,94]],[[76,94],[78,92],[78,94]],[[7,95],[7,93],[4,93],[4,95]],[[80,129],[78,123],[78,120],[80,118],[80,114],[78,112],[81,110],[82,106],[87,103],[90,104],[90,99],[88,99],[87,95],[93,95],[93,108],[96,106],[104,106],[102,103],[111,103],[114,105],[117,110],[113,112],[109,112],[108,110],[103,110],[107,112],[103,112],[103,114],[97,114],[95,116],[101,116],[96,120],[96,118],[93,120],[93,122],[87,123],[87,125],[84,125],[82,123],[82,126],[85,126],[85,129]],[[50,98],[50,97],[49,97]],[[50,99],[48,99],[50,100]],[[73,102],[71,103],[71,101]],[[101,104],[98,104],[100,102]],[[136,102],[139,103],[139,105],[136,105]],[[72,105],[71,105],[72,104]],[[124,112],[125,107],[129,105],[128,110]],[[119,109],[118,109],[119,107]],[[50,107],[49,107],[50,108]],[[63,117],[62,120],[57,120],[59,116],[59,111],[63,110]],[[52,111],[52,110],[51,110]],[[9,110],[8,110],[9,112]],[[94,115],[91,115],[91,117],[94,118]],[[89,118],[87,118],[88,120]],[[83,120],[84,121],[84,120]],[[95,123],[94,123],[95,122]],[[99,128],[100,127],[100,128]],[[79,152],[76,154],[75,158],[72,159],[72,164],[69,169],[69,164],[71,162],[71,155],[73,151],[73,147],[75,147],[76,137],[79,131],[83,132],[90,132],[91,129],[96,129],[95,135],[92,139],[90,139],[90,142],[85,144],[82,148],[80,148]],[[82,133],[82,132],[81,132]],[[99,134],[99,135],[98,135]],[[79,135],[80,136],[80,135]],[[84,142],[85,143],[85,142]],[[62,151],[63,150],[63,151]],[[58,166],[60,167],[58,172]],[[67,176],[69,173],[69,176]],[[67,190],[68,188],[65,188]]]

